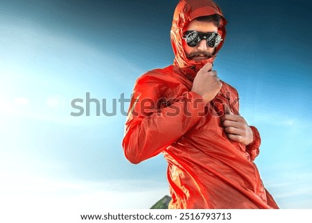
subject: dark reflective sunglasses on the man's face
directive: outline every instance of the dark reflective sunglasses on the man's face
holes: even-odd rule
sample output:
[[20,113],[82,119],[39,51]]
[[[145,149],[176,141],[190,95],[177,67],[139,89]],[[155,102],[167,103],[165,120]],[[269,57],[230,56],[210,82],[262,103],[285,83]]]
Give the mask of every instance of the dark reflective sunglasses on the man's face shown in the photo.
[[196,47],[201,40],[207,41],[207,47],[218,47],[218,44],[223,40],[219,33],[200,33],[198,31],[186,31],[182,37],[186,40],[189,47]]

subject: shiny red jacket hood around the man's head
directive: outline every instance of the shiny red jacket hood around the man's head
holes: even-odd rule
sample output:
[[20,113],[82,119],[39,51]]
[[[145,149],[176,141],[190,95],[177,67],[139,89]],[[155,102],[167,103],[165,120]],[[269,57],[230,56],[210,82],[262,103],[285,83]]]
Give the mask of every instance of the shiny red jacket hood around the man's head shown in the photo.
[[[195,61],[189,60],[185,56],[184,49],[182,47],[182,35],[183,29],[189,22],[191,22],[196,17],[207,16],[218,14],[222,17],[220,21],[220,27],[218,27],[218,33],[222,36],[223,41],[220,42],[216,49],[216,53],[212,58],[207,60]],[[201,68],[206,63],[214,63],[216,54],[223,46],[225,40],[225,24],[227,21],[223,17],[223,13],[220,8],[212,0],[180,0],[175,8],[175,13],[173,15],[173,22],[171,26],[171,44],[173,47],[173,53],[175,54],[175,59],[173,65],[178,67],[193,67]]]

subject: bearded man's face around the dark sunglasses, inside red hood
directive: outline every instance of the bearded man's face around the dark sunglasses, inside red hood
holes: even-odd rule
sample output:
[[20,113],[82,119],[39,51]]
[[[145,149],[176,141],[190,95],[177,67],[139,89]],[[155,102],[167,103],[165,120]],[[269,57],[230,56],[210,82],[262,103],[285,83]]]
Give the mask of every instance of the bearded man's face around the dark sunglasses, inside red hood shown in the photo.
[[[192,20],[185,31],[198,31],[201,33],[212,33],[218,31],[218,26],[213,22],[198,21],[196,19]],[[201,40],[196,47],[189,47],[187,42],[183,40],[184,53],[189,60],[207,60],[214,56],[216,47],[208,47],[206,40]]]

